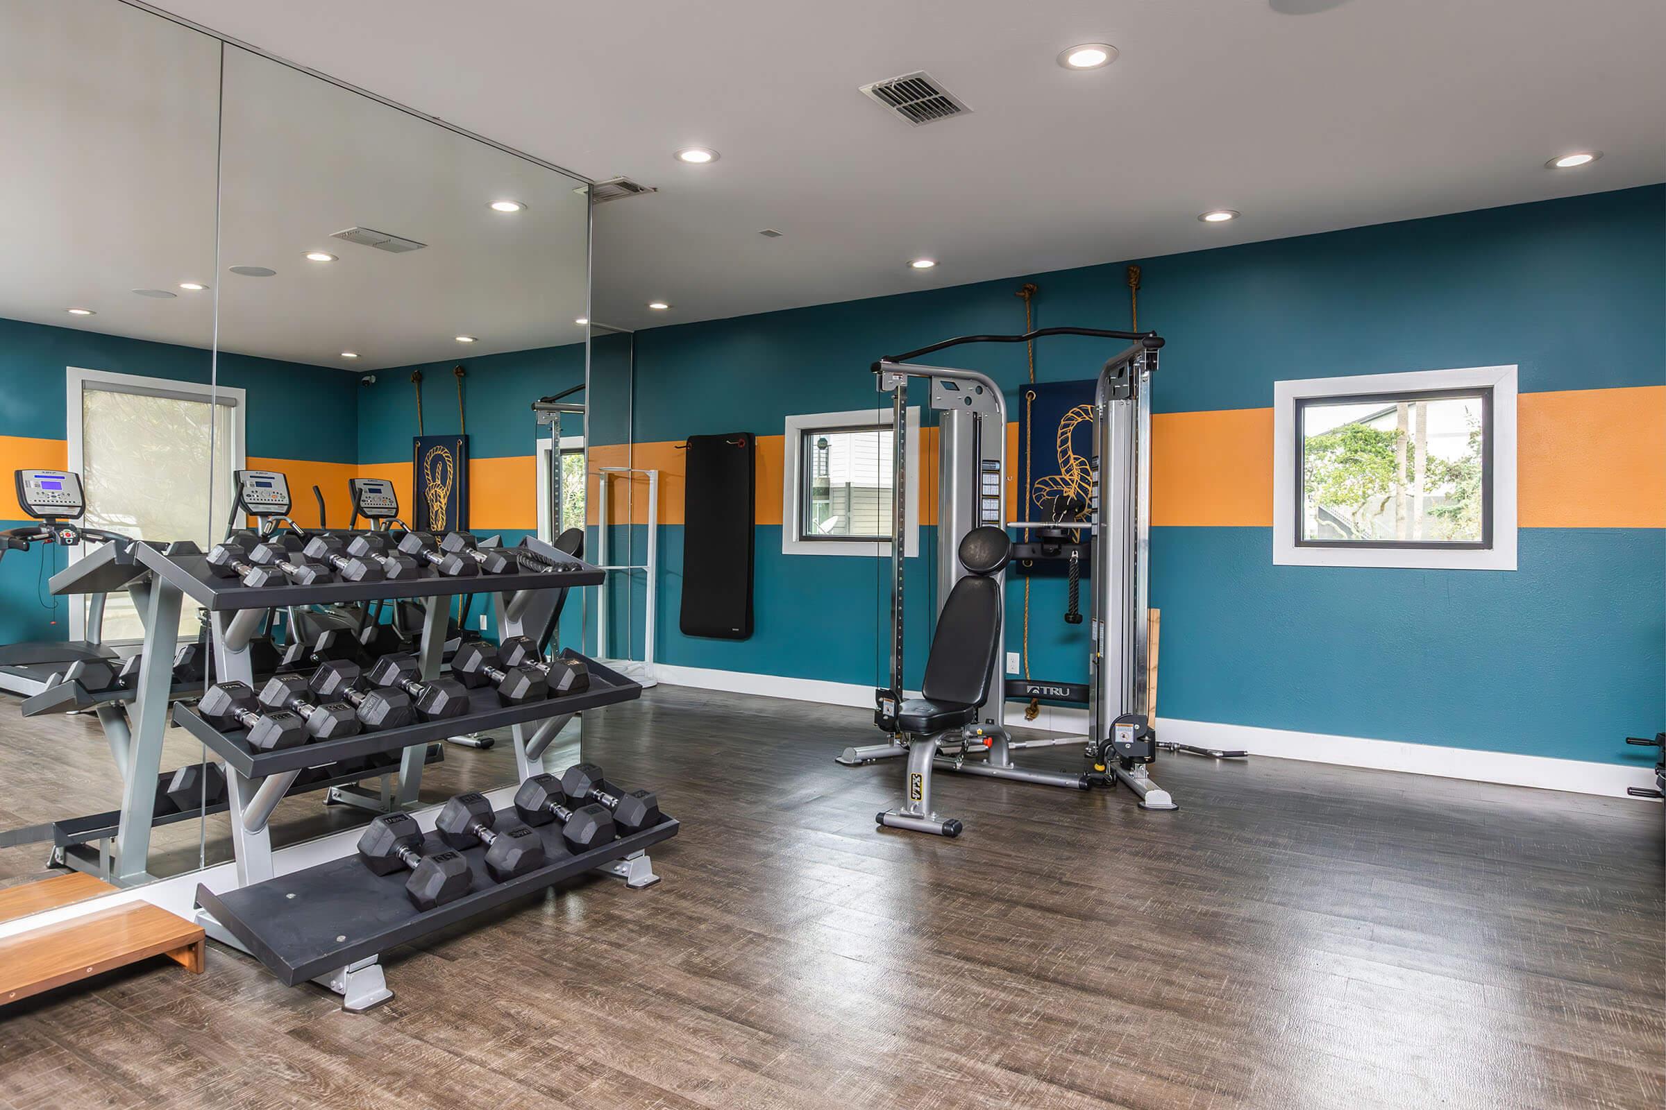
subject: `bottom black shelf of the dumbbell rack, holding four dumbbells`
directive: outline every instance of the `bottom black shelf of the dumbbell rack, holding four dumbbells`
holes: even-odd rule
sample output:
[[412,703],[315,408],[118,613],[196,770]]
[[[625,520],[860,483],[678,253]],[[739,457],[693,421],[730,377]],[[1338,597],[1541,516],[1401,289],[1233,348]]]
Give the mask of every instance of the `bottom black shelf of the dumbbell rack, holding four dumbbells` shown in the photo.
[[[498,825],[515,820],[515,810],[498,812]],[[493,882],[486,874],[485,847],[463,849],[470,869],[468,894],[431,910],[412,905],[405,894],[408,870],[377,875],[357,854],[223,894],[198,885],[197,905],[212,914],[287,987],[293,987],[635,855],[675,837],[676,829],[678,822],[666,817],[653,829],[573,854],[561,839],[560,822],[540,825],[536,832],[543,837],[550,862],[508,882]],[[425,855],[445,847],[435,832],[423,837]]]

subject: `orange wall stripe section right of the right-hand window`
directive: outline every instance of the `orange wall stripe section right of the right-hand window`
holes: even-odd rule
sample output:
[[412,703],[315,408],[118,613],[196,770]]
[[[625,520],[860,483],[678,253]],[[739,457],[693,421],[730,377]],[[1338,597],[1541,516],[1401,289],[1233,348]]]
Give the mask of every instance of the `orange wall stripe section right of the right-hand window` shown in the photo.
[[1666,528],[1666,386],[1523,393],[1521,528]]

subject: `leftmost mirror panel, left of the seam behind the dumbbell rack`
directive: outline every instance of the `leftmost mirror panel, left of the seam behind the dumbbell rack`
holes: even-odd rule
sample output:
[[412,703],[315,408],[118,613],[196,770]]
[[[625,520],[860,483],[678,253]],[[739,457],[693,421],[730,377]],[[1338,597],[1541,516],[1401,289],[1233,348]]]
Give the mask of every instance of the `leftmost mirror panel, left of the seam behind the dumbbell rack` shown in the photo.
[[[0,3],[0,885],[195,867],[195,604],[135,541],[203,546],[215,404],[218,40],[115,0]],[[142,651],[167,626],[165,656]]]

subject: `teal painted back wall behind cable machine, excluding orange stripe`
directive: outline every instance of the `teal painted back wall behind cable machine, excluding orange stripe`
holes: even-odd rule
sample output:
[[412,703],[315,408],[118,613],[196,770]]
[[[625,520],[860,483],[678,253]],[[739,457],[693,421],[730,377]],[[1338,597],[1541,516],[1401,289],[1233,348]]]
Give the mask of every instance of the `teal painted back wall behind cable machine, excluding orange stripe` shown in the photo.
[[[1140,325],[1168,339],[1158,411],[1264,408],[1283,378],[1438,366],[1516,363],[1523,391],[1666,383],[1666,186],[1135,261]],[[1025,280],[1041,290],[1036,326],[1128,325],[1125,263]],[[781,434],[791,413],[873,406],[876,356],[1021,330],[1018,283],[638,333],[636,439]],[[1046,341],[1036,376],[1090,378],[1105,354]],[[1006,384],[1016,411],[1021,346],[951,361]],[[1158,528],[1161,712],[1623,762],[1623,734],[1666,719],[1663,531],[1523,529],[1519,544],[1516,572],[1274,567],[1264,528]],[[681,636],[680,528],[660,551],[660,661],[875,679],[875,561],[783,556],[780,528],[758,528],[756,632],[730,642]],[[923,556],[916,602],[930,546]],[[1008,591],[1010,649],[1021,594]],[[1063,609],[1063,582],[1038,581],[1033,671],[1083,679],[1085,632]]]

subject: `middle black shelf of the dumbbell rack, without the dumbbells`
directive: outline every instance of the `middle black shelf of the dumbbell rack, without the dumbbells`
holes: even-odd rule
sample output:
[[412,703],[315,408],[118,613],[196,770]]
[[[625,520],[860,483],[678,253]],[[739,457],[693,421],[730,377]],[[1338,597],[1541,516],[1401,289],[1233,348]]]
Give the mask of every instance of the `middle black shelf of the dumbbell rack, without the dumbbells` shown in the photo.
[[[568,659],[583,659],[585,666],[590,669],[588,691],[581,694],[565,694],[561,697],[546,697],[543,701],[525,702],[521,706],[501,706],[483,712],[466,712],[461,717],[446,717],[443,721],[420,721],[403,729],[360,732],[357,736],[342,737],[340,741],[317,741],[313,744],[287,747],[277,752],[252,751],[243,739],[247,736],[245,731],[238,729],[237,732],[220,732],[220,729],[213,727],[197,714],[195,706],[175,706],[173,719],[185,726],[192,736],[207,744],[210,751],[220,756],[227,767],[232,767],[238,774],[250,779],[263,779],[267,776],[275,776],[285,771],[298,771],[315,764],[353,759],[357,756],[373,756],[377,752],[390,752],[413,744],[425,744],[428,741],[443,741],[448,736],[485,732],[486,729],[501,729],[511,724],[525,724],[541,717],[558,717],[570,712],[580,712],[583,709],[596,709],[600,706],[611,706],[615,702],[641,697],[641,686],[631,682],[625,676],[576,652],[566,651],[561,654]],[[496,701],[496,694],[491,687],[470,691],[470,697],[486,702]]]

